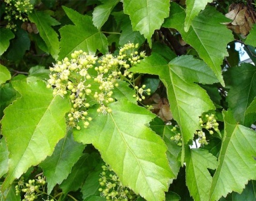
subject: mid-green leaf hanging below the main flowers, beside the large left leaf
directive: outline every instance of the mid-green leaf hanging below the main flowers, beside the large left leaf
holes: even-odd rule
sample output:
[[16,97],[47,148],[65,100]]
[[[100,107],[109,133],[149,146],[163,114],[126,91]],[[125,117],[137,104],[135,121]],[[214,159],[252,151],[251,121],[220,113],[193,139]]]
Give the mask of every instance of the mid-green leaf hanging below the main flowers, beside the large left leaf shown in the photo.
[[69,131],[56,145],[53,155],[40,163],[43,175],[46,176],[48,194],[56,184],[61,184],[68,177],[73,165],[82,156],[83,149],[85,145],[74,141],[72,132]]

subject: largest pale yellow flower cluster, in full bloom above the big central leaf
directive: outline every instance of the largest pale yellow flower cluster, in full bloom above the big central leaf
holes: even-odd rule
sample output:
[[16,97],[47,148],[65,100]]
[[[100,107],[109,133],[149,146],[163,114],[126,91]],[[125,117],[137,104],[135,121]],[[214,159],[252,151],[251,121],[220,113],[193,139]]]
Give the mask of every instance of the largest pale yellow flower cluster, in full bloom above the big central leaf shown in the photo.
[[[81,129],[80,120],[84,128],[88,128],[92,117],[88,110],[92,105],[98,105],[100,114],[111,113],[109,104],[115,101],[114,88],[118,87],[117,79],[124,79],[133,85],[133,74],[127,70],[139,63],[139,58],[145,57],[144,52],[138,55],[138,44],[128,43],[120,49],[119,55],[106,54],[98,58],[87,52],[75,51],[71,59],[64,58],[50,67],[48,88],[53,88],[54,96],[69,95],[72,104],[68,114],[68,125]],[[136,61],[136,62],[135,62]],[[128,76],[129,79],[126,78]],[[135,88],[142,100],[143,88]],[[149,89],[146,90],[150,92]]]

